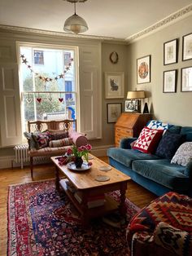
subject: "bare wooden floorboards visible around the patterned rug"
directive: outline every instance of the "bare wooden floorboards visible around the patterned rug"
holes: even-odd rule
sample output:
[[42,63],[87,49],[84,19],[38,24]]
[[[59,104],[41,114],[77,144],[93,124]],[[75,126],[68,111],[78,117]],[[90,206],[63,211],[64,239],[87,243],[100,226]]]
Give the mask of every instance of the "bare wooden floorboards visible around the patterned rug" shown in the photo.
[[[107,162],[107,157],[99,157]],[[55,166],[41,165],[35,166],[33,172],[34,180],[43,180],[55,178]],[[8,186],[15,183],[31,182],[29,167],[0,170],[0,255],[7,255],[7,192]],[[156,198],[154,194],[148,192],[145,188],[129,181],[126,196],[130,201],[140,208],[149,204]]]

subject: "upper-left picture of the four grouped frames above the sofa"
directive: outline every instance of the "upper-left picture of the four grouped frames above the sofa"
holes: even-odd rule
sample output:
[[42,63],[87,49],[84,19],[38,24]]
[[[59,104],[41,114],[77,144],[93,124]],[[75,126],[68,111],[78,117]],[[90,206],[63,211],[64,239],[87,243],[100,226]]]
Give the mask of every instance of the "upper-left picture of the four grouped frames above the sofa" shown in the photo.
[[177,63],[177,39],[164,42],[164,65]]

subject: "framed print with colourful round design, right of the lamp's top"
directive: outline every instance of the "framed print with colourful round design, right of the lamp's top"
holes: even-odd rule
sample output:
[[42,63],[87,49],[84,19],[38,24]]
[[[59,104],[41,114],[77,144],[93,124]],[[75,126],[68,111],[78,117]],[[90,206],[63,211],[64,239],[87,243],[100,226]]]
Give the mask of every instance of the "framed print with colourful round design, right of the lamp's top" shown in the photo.
[[151,82],[151,55],[137,59],[137,84]]

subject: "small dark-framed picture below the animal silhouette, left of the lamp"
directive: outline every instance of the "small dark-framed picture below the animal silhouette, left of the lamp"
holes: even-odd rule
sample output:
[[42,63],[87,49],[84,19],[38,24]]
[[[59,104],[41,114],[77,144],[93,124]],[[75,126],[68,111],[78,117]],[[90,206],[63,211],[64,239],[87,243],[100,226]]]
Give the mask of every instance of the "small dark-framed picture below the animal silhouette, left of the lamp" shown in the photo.
[[121,103],[108,103],[107,104],[107,123],[116,122],[122,112]]

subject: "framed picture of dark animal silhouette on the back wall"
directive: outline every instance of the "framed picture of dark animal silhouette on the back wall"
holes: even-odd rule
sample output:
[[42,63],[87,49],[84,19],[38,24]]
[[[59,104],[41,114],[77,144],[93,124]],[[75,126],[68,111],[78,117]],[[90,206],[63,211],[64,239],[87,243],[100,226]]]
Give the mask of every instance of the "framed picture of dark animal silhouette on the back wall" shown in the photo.
[[124,98],[124,72],[105,72],[105,98]]

